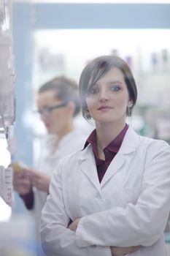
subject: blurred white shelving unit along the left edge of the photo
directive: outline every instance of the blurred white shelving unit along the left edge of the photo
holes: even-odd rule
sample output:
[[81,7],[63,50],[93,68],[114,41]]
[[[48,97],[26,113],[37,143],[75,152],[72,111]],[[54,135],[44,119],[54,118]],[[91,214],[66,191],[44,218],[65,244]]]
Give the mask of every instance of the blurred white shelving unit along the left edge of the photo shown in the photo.
[[[0,139],[12,144],[15,121],[15,68],[12,56],[12,2],[0,0]],[[12,205],[12,168],[0,166],[0,197]],[[2,214],[0,205],[0,221]]]

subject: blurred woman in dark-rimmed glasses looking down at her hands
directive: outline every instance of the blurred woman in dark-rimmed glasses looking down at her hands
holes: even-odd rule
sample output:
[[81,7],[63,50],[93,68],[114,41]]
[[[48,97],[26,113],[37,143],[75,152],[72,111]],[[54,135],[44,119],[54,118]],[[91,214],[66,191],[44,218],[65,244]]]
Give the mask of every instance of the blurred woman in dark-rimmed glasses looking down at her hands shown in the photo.
[[[19,173],[14,172],[14,188],[26,208],[34,211],[40,244],[39,219],[53,170],[62,157],[83,148],[85,136],[74,127],[74,116],[80,112],[78,85],[74,80],[61,76],[48,81],[39,88],[36,104],[48,135],[42,143],[35,169],[26,167]],[[39,244],[38,255],[42,256]]]

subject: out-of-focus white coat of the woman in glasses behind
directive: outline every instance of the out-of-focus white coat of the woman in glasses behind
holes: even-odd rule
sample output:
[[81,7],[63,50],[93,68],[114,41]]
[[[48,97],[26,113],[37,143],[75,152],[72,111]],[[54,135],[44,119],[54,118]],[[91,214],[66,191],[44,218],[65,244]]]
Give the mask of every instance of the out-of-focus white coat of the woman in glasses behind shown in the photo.
[[[52,175],[55,168],[58,166],[58,162],[68,154],[72,154],[75,151],[79,151],[85,144],[85,136],[82,135],[80,130],[76,129],[65,135],[60,142],[58,147],[55,148],[56,143],[55,136],[48,135],[45,138],[41,146],[41,155],[36,164],[36,170],[41,173],[45,173],[49,176]],[[47,192],[42,192],[34,187],[34,215],[36,224],[36,240],[39,243],[38,255],[44,255],[41,252],[41,242],[39,236],[39,219],[41,217],[41,211],[47,200]]]

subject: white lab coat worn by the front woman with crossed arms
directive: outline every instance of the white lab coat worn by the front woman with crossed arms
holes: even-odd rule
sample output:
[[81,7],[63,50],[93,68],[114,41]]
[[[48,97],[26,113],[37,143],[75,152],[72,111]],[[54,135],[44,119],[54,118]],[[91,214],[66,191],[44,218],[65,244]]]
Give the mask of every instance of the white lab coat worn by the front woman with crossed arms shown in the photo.
[[[42,244],[49,256],[110,256],[109,246],[135,245],[131,256],[165,256],[169,207],[170,146],[129,127],[101,184],[90,145],[61,161],[42,210]],[[67,227],[77,218],[74,233]]]

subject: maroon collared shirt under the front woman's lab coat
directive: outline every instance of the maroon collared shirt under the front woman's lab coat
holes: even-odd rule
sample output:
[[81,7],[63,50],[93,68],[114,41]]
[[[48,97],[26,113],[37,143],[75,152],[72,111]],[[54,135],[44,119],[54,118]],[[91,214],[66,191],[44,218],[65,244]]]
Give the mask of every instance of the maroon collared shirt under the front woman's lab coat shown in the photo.
[[111,143],[109,143],[109,145],[107,145],[106,148],[104,148],[105,160],[98,159],[97,157],[96,129],[94,129],[93,132],[91,132],[90,136],[88,137],[88,140],[86,140],[85,148],[88,146],[88,144],[91,144],[93,148],[93,153],[96,160],[96,168],[98,172],[98,179],[100,182],[104,177],[104,174],[106,173],[107,168],[109,167],[109,164],[112,162],[112,159],[115,157],[115,155],[119,151],[127,129],[128,129],[128,124],[125,124],[125,127],[120,132],[120,134],[117,135],[117,137],[114,140],[112,140]]

